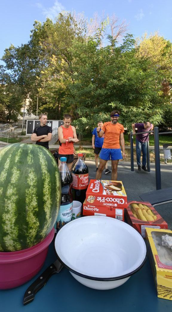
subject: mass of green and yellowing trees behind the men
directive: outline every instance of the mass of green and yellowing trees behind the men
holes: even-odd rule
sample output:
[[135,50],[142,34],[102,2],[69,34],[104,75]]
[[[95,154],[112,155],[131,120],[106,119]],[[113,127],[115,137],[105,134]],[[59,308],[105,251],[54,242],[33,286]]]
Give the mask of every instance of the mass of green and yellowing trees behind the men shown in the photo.
[[35,21],[30,41],[11,45],[2,57],[10,74],[4,69],[0,74],[0,112],[15,119],[29,95],[29,112],[36,114],[38,96],[38,113],[47,111],[52,119],[70,113],[80,135],[90,133],[100,119],[109,121],[116,108],[128,131],[133,122],[145,120],[169,126],[172,44],[157,34],[139,42],[126,34],[119,44],[113,21],[95,23],[92,34],[85,18],[70,12],[60,13],[54,23]]

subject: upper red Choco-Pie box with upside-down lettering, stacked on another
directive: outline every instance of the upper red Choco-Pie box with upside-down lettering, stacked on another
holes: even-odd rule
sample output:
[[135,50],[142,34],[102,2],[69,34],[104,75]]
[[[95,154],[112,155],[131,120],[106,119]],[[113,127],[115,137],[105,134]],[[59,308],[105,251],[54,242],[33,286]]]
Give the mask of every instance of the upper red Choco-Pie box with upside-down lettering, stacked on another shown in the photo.
[[127,195],[121,181],[90,180],[86,203],[95,206],[127,207]]

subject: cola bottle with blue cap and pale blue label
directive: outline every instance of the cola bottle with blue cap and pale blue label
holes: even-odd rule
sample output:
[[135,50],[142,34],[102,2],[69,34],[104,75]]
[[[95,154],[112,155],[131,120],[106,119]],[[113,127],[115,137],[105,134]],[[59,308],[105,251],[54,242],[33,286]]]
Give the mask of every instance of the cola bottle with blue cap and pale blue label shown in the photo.
[[66,164],[66,157],[60,158],[60,178],[61,178],[61,203],[60,209],[57,216],[56,229],[59,230],[63,225],[72,220],[72,206],[73,206],[73,196],[72,196],[72,173],[69,171]]

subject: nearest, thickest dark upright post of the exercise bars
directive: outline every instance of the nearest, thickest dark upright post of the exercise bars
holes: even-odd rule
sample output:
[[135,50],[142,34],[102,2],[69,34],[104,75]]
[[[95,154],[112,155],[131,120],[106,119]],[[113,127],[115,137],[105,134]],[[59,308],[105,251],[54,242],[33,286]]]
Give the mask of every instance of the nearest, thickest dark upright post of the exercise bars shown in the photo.
[[154,128],[154,146],[155,146],[155,175],[156,175],[156,189],[161,189],[161,172],[160,172],[160,144],[159,144],[159,129]]

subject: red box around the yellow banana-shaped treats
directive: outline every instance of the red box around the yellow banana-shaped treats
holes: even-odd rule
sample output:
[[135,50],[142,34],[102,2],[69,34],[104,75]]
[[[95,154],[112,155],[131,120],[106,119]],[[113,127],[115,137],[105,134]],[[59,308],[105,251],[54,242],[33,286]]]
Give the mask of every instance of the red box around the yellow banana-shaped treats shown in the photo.
[[[146,205],[149,209],[151,209],[154,216],[156,216],[155,221],[142,221],[138,218],[134,217],[131,211],[131,204],[143,204]],[[143,237],[145,237],[145,227],[152,227],[157,229],[168,229],[168,224],[165,220],[160,216],[160,214],[155,210],[155,208],[150,204],[150,202],[136,202],[131,201],[128,202],[128,207],[125,209],[125,218],[127,222],[134,227]]]

